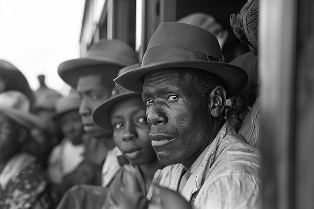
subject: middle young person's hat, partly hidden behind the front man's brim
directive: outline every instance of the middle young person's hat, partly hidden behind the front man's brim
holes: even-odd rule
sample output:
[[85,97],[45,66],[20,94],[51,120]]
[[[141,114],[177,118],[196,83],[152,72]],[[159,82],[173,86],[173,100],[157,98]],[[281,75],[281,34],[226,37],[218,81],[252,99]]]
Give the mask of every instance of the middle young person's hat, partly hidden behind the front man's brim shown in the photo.
[[[125,73],[129,70],[135,69],[140,67],[140,64],[134,64],[127,67],[122,68],[118,76],[122,73]],[[115,85],[112,92],[111,97],[101,103],[93,112],[93,119],[96,124],[105,128],[105,129],[112,129],[111,120],[110,120],[110,109],[111,107],[125,98],[132,97],[132,96],[139,96],[139,93],[132,92],[126,89],[123,89],[119,85]]]

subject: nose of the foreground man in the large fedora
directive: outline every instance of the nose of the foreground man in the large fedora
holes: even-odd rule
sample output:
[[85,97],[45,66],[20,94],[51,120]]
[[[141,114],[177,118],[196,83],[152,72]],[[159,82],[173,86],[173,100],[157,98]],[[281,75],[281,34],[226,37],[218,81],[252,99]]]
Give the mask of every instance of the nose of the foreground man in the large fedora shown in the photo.
[[147,122],[149,126],[166,124],[168,122],[168,117],[163,111],[161,105],[153,105],[146,109]]

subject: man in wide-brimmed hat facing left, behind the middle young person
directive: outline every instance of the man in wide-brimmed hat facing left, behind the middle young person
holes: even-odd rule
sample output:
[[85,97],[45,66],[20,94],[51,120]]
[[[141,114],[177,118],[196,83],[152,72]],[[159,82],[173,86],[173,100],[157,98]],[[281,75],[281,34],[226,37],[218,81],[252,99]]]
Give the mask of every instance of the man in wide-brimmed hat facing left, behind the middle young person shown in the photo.
[[[100,178],[102,184],[108,183],[114,172],[119,169],[116,157],[110,157],[119,154],[118,148],[114,148],[112,130],[96,125],[92,112],[110,97],[114,87],[113,79],[118,71],[137,62],[135,51],[127,44],[119,40],[101,40],[90,47],[85,57],[68,60],[59,65],[60,77],[76,89],[81,97],[79,114],[84,130],[90,136],[85,147],[85,158],[65,179],[64,191],[74,184],[100,184]],[[100,177],[105,158],[109,168],[104,166]]]

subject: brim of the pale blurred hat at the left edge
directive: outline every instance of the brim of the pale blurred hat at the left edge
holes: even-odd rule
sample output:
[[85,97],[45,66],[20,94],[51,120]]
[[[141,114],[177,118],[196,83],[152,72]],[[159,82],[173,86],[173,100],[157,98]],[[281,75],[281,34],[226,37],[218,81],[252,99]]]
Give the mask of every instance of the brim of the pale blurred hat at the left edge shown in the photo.
[[35,114],[6,107],[0,107],[0,113],[30,130],[33,128],[47,129],[47,123]]

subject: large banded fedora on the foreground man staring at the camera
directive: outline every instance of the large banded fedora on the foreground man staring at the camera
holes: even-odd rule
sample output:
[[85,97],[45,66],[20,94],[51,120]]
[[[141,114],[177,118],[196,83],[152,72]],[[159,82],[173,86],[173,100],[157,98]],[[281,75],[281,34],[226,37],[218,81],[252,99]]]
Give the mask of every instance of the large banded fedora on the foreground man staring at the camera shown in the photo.
[[152,35],[140,68],[123,73],[114,81],[125,89],[141,93],[143,75],[166,68],[208,71],[226,83],[227,98],[238,94],[247,83],[245,71],[222,61],[216,37],[185,23],[165,22]]

